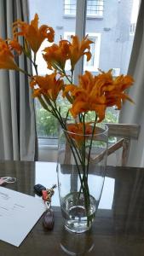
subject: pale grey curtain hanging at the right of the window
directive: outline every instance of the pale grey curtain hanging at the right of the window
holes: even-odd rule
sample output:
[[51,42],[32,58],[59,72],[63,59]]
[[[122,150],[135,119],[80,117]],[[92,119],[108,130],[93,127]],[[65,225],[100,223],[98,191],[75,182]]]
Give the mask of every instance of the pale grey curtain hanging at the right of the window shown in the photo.
[[144,1],[141,1],[128,73],[135,79],[129,90],[135,104],[124,103],[119,123],[141,125],[138,141],[131,142],[127,165],[144,167]]

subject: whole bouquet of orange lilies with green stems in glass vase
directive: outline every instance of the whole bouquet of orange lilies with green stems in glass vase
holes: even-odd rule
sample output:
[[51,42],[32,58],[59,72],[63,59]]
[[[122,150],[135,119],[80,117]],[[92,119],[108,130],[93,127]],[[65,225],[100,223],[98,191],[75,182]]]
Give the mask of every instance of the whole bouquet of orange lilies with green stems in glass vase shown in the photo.
[[[19,44],[19,38],[23,37],[24,45]],[[78,84],[74,84],[73,74],[79,59],[86,55],[87,61],[91,58],[90,44],[93,44],[86,36],[82,41],[78,36],[72,36],[71,41],[61,39],[59,44],[55,44],[55,31],[50,26],[38,27],[38,15],[36,14],[30,24],[17,20],[13,24],[13,38],[3,40],[0,38],[0,68],[12,69],[25,73],[30,78],[30,85],[33,96],[37,97],[43,108],[52,113],[60,122],[64,131],[70,131],[67,142],[72,149],[72,154],[78,175],[80,178],[79,195],[83,192],[86,212],[89,212],[89,187],[87,184],[89,173],[89,157],[86,159],[84,136],[95,134],[95,124],[100,123],[105,118],[106,109],[116,106],[122,107],[125,100],[132,102],[130,97],[124,92],[133,84],[133,79],[129,75],[112,77],[112,69],[107,73],[100,70],[98,75],[93,75],[88,71],[79,75]],[[40,76],[37,73],[37,51],[43,40],[47,39],[53,43],[43,49],[43,61],[46,61],[51,73]],[[36,75],[26,73],[14,61],[14,52],[17,55],[24,54],[32,62]],[[71,70],[66,73],[66,61],[70,61]],[[70,103],[71,107],[66,113],[66,117],[61,116],[58,96],[62,95]],[[95,113],[93,125],[86,121],[89,111]],[[67,125],[68,117],[75,119],[71,125]],[[78,137],[78,135],[82,135]],[[93,139],[91,137],[91,140]],[[80,138],[80,139],[79,139]],[[90,143],[91,145],[91,143]],[[90,154],[91,146],[89,146]],[[88,155],[89,155],[88,154]],[[81,170],[79,167],[81,166]],[[87,163],[87,168],[86,168]],[[81,174],[82,173],[82,174]],[[87,214],[88,215],[88,214]],[[88,220],[89,225],[90,218]]]

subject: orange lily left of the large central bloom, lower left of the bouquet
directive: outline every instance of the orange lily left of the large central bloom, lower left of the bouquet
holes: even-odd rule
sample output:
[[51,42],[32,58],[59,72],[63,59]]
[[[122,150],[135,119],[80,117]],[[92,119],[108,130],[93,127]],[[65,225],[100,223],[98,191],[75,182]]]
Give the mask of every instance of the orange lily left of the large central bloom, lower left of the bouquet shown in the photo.
[[56,73],[46,75],[45,77],[33,76],[31,81],[31,87],[34,88],[33,96],[46,95],[55,102],[63,84],[63,80],[56,78]]

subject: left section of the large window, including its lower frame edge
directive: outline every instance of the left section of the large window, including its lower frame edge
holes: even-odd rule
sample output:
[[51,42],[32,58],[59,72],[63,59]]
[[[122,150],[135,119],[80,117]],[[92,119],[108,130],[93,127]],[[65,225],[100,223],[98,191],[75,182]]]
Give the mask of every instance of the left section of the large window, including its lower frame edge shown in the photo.
[[[69,1],[67,1],[68,3]],[[76,1],[74,1],[76,3]],[[33,19],[35,13],[39,16],[40,25],[46,24],[52,26],[55,29],[55,43],[60,41],[60,37],[63,36],[65,31],[70,30],[69,19],[63,20],[63,0],[59,1],[44,1],[42,4],[41,0],[29,0],[29,9],[30,9],[30,20]],[[48,10],[49,15],[48,15]],[[76,4],[75,4],[76,9]],[[74,32],[76,26],[75,17],[72,19],[71,29]],[[46,73],[51,73],[47,69],[46,63],[43,61],[43,52],[42,50],[48,47],[50,43],[47,40],[43,42],[40,49],[37,52],[37,68],[38,75],[45,75]],[[60,100],[61,112],[66,112],[67,104],[64,100]],[[38,137],[38,147],[47,148],[48,145],[51,148],[57,146],[57,137],[58,137],[58,123],[55,118],[44,110],[41,104],[35,99],[35,108],[36,108],[36,121],[37,121],[37,137]]]

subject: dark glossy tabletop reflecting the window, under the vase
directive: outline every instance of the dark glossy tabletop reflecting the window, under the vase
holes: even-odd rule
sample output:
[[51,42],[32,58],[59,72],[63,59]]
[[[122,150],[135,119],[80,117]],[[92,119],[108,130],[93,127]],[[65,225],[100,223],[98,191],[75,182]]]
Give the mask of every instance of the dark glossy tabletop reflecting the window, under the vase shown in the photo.
[[[16,183],[6,184],[6,188],[36,196],[33,190],[36,183],[42,183],[47,188],[57,183],[56,163],[2,161],[0,177],[4,176],[17,179]],[[55,189],[52,200],[55,212],[54,230],[43,230],[41,218],[19,248],[0,241],[0,252],[3,256],[143,256],[143,181],[144,169],[107,166],[95,224],[92,230],[80,236],[63,229],[58,189]]]

